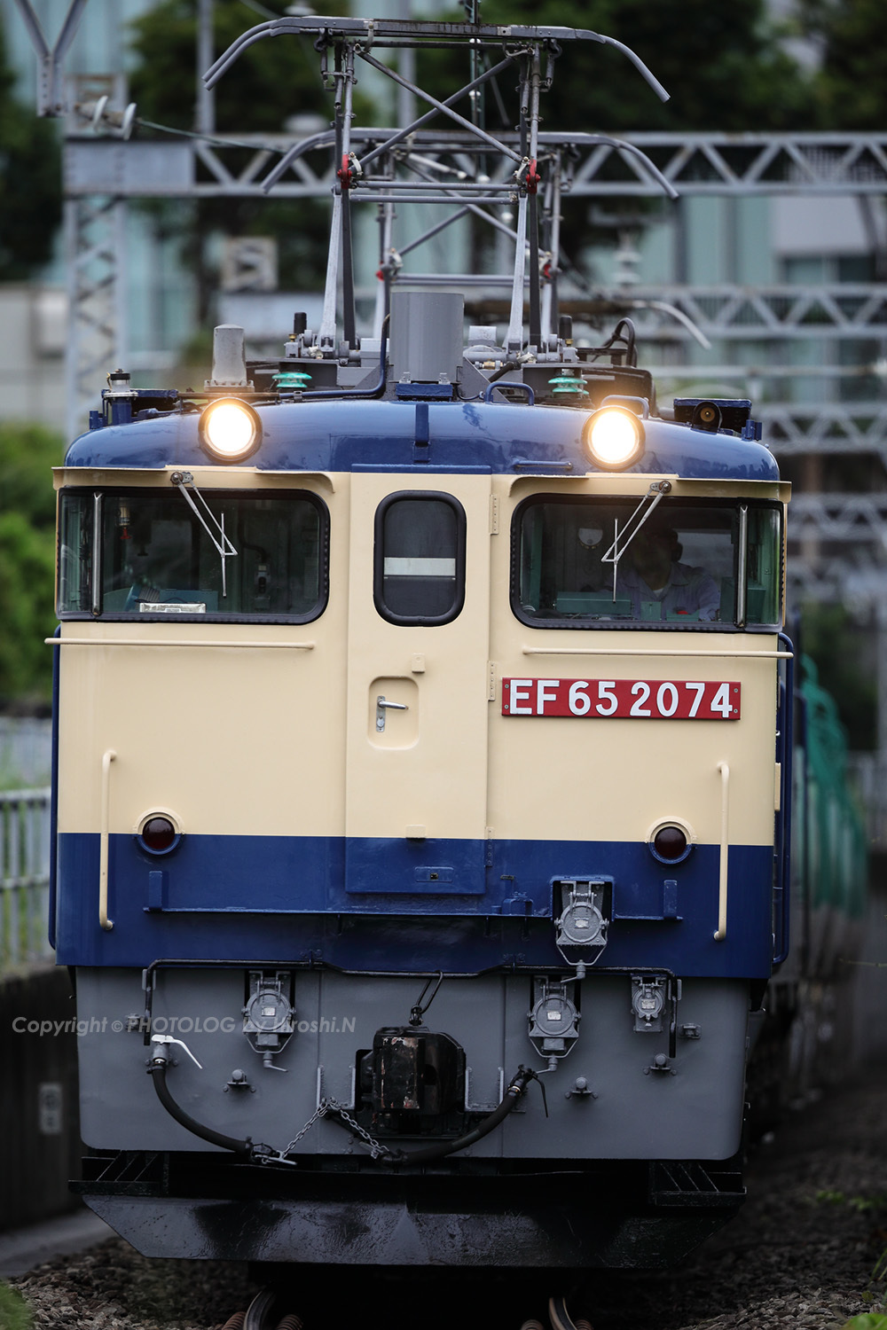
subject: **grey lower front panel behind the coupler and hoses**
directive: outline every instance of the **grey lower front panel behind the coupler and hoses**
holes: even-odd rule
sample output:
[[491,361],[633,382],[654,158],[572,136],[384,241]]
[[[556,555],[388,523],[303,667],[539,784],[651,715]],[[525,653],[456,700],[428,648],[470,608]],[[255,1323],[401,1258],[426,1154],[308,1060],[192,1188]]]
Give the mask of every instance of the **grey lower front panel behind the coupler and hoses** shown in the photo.
[[[298,972],[297,1032],[273,1069],[243,1035],[245,972],[231,968],[158,974],[153,1028],[182,1040],[168,1084],[178,1104],[206,1127],[279,1149],[309,1123],[323,1097],[352,1108],[359,1056],[380,1027],[407,1019],[422,982],[403,976]],[[472,1158],[649,1160],[729,1158],[739,1146],[749,986],[743,980],[684,982],[676,1056],[668,1028],[638,1033],[630,975],[589,972],[578,1037],[555,1072],[528,1039],[529,975],[447,979],[428,1020],[465,1053],[468,1113],[495,1109],[521,1064],[543,1071],[548,1116],[537,1085],[496,1132],[471,1146]],[[145,1075],[149,1049],[128,1033],[144,1008],[141,972],[80,970],[77,1013],[81,1132],[97,1150],[210,1150],[158,1103]],[[694,1037],[686,1037],[684,1032]],[[666,1061],[657,1065],[657,1057]],[[233,1089],[235,1071],[247,1087]],[[286,1075],[282,1075],[286,1072]],[[582,1081],[588,1092],[576,1093]],[[472,1123],[475,1119],[472,1119]],[[410,1137],[388,1144],[407,1150]],[[423,1142],[426,1144],[426,1142]],[[364,1152],[335,1121],[315,1121],[299,1141],[306,1156]],[[465,1154],[460,1154],[465,1157]]]

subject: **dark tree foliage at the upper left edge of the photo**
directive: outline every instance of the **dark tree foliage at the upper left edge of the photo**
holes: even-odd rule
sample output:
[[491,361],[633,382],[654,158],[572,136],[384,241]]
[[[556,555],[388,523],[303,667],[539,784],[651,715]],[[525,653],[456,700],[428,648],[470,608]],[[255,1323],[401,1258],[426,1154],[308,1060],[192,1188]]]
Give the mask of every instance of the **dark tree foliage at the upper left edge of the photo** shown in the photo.
[[45,263],[61,221],[55,126],[13,94],[0,25],[0,282],[20,282]]

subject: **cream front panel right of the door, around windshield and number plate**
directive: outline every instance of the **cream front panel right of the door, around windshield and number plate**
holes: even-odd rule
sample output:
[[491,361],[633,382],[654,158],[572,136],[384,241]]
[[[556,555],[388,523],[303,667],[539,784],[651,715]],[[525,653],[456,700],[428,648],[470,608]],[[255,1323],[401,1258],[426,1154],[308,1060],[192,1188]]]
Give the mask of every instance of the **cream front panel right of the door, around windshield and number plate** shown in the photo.
[[[774,834],[774,633],[536,629],[511,609],[511,527],[532,493],[646,492],[626,476],[496,477],[500,533],[492,540],[489,704],[489,825],[495,839],[646,841],[678,819],[697,842],[722,835],[722,777],[729,775],[729,837],[734,845],[771,845]],[[678,481],[676,497],[782,499],[779,485]],[[765,492],[766,491],[766,492]],[[612,652],[612,654],[610,654]],[[673,654],[672,654],[673,653]],[[751,654],[761,653],[761,654]],[[738,721],[605,720],[501,714],[501,680],[590,678],[737,681]]]

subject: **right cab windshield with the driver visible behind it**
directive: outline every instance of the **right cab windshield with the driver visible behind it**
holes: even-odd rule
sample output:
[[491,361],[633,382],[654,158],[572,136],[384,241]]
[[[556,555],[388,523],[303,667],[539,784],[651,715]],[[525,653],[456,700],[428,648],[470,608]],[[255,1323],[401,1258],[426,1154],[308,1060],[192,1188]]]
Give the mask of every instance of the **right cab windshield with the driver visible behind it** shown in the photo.
[[777,507],[664,500],[640,527],[637,507],[528,500],[515,519],[517,617],[539,628],[779,622]]

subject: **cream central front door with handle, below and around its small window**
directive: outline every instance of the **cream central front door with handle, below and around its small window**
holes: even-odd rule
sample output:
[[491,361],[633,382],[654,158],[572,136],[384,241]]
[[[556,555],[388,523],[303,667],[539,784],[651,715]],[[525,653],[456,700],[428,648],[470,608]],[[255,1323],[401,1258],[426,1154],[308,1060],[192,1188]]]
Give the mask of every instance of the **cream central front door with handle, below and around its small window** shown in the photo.
[[[387,495],[451,495],[465,511],[465,600],[448,624],[391,624],[372,600],[374,523]],[[351,477],[346,835],[483,839],[487,826],[489,476]],[[375,730],[376,689],[410,706]]]

